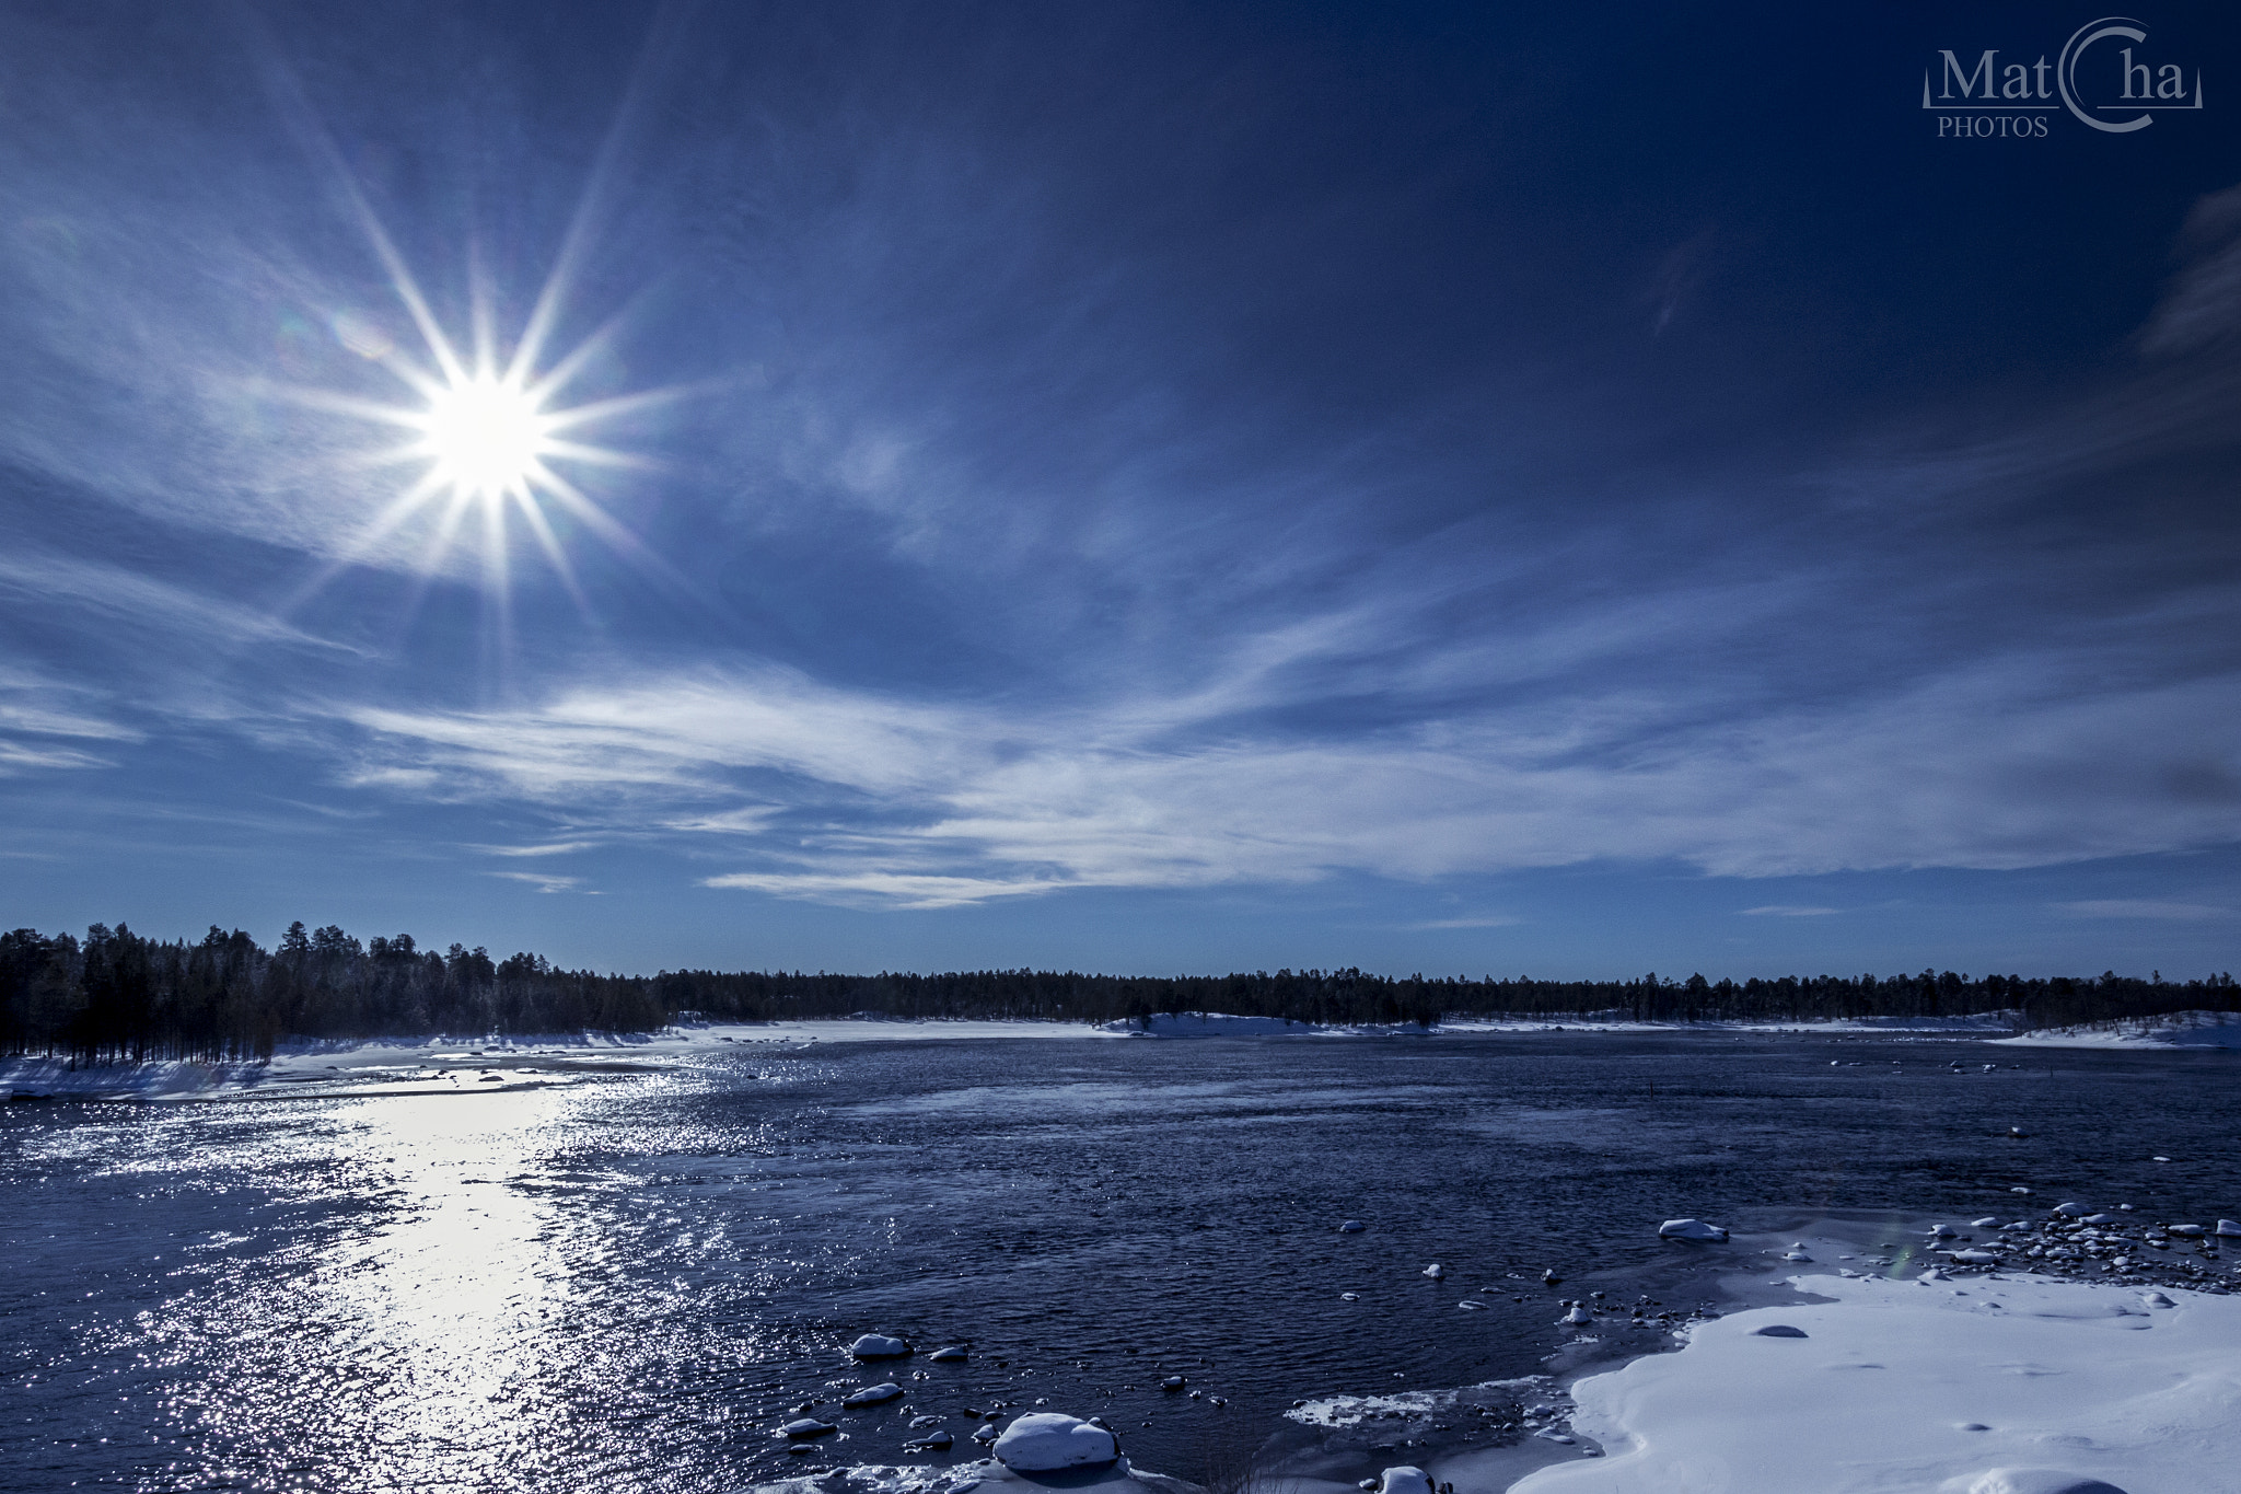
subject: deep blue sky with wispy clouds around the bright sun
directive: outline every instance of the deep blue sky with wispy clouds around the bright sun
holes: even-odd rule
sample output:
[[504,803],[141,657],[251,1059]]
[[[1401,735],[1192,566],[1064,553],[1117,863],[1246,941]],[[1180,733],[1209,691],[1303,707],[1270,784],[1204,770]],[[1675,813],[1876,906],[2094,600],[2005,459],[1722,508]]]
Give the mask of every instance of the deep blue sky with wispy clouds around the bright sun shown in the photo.
[[9,7],[4,923],[2230,968],[2241,27],[1921,108],[2093,18]]

